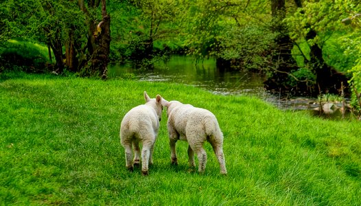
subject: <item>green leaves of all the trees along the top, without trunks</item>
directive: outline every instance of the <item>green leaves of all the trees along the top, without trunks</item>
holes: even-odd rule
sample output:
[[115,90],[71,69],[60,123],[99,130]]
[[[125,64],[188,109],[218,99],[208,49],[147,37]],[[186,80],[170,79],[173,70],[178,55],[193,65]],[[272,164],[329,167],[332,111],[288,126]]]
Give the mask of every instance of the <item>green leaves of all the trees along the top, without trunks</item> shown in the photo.
[[[96,47],[95,27],[102,20],[100,7],[95,6],[95,2],[100,1],[1,1],[0,47],[19,36],[27,41],[40,41],[51,46],[58,67],[67,65],[68,70],[86,76],[88,70],[84,68],[90,67],[89,60]],[[280,81],[293,88],[299,86],[299,80],[316,85],[313,68],[318,65],[310,62],[312,46],[316,45],[322,49],[326,65],[357,74],[356,63],[360,60],[356,51],[359,49],[352,43],[359,41],[360,36],[360,17],[353,18],[360,13],[357,0],[287,1],[286,13],[275,21],[272,9],[279,2],[108,1],[108,13],[112,16],[109,59],[132,60],[141,67],[152,67],[154,61],[167,59],[174,52],[189,54],[198,60],[215,57],[218,62],[228,62],[233,67],[259,69],[269,76],[275,73],[286,76]],[[345,21],[349,25],[341,23],[345,18],[349,19]],[[314,32],[314,36],[310,37],[310,32]],[[292,49],[301,69],[293,65],[290,71],[283,71],[284,64],[277,61],[277,56],[283,54],[278,49],[279,36],[292,38],[295,47],[287,49]],[[69,56],[63,59],[64,53],[70,53],[69,48],[75,51],[76,68],[69,65]],[[290,56],[290,51],[284,53]],[[357,78],[353,78],[355,85]]]

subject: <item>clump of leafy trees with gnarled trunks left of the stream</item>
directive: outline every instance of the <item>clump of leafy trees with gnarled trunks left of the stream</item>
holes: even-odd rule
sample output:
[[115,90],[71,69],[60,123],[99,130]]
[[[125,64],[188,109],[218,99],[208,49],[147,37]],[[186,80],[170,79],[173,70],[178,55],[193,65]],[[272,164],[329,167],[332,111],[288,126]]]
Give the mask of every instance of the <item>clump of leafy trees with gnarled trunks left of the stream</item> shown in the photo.
[[[0,22],[5,27],[1,41],[16,36],[36,39],[51,48],[56,73],[67,67],[80,76],[106,78],[110,15],[106,12],[106,0],[91,0],[87,4],[84,0],[12,0],[3,4],[6,18]],[[102,8],[98,9],[100,5]]]

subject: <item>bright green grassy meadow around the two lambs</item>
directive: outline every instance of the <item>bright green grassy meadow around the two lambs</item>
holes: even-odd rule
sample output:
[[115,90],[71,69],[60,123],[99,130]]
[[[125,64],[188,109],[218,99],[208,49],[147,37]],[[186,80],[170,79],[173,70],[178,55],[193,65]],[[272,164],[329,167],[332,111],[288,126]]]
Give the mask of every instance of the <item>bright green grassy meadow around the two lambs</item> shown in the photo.
[[[166,115],[149,176],[125,167],[119,126],[143,91],[212,111],[229,174],[170,165]],[[360,122],[279,111],[178,84],[0,75],[1,205],[361,205]]]

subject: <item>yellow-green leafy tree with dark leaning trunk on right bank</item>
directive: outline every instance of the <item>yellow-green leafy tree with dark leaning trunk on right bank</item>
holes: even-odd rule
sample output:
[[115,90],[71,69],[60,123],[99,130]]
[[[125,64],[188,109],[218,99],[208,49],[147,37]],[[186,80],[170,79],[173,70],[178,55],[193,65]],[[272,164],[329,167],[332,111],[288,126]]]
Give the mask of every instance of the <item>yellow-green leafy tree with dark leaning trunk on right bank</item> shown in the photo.
[[[345,32],[340,25],[342,12],[334,1],[296,1],[298,10],[286,21],[290,36],[296,42],[305,42],[310,49],[310,58],[304,58],[306,67],[314,74],[312,93],[340,93],[341,82],[347,86],[347,78],[336,71],[324,59],[323,46],[335,33]],[[301,50],[301,48],[299,47]],[[303,51],[301,51],[303,52]],[[303,56],[307,56],[303,54]]]

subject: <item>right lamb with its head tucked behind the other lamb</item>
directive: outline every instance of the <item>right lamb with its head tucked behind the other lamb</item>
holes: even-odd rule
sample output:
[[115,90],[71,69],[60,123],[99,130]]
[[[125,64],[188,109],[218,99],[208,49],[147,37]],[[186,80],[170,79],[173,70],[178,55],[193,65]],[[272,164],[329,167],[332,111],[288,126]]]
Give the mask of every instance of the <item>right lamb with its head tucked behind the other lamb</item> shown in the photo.
[[220,163],[220,173],[226,174],[226,163],[223,154],[223,134],[216,116],[204,108],[196,108],[178,101],[162,101],[167,107],[167,128],[170,137],[172,164],[178,165],[176,157],[176,141],[188,141],[189,166],[195,168],[194,152],[198,157],[198,172],[205,172],[207,153],[203,148],[209,141]]

